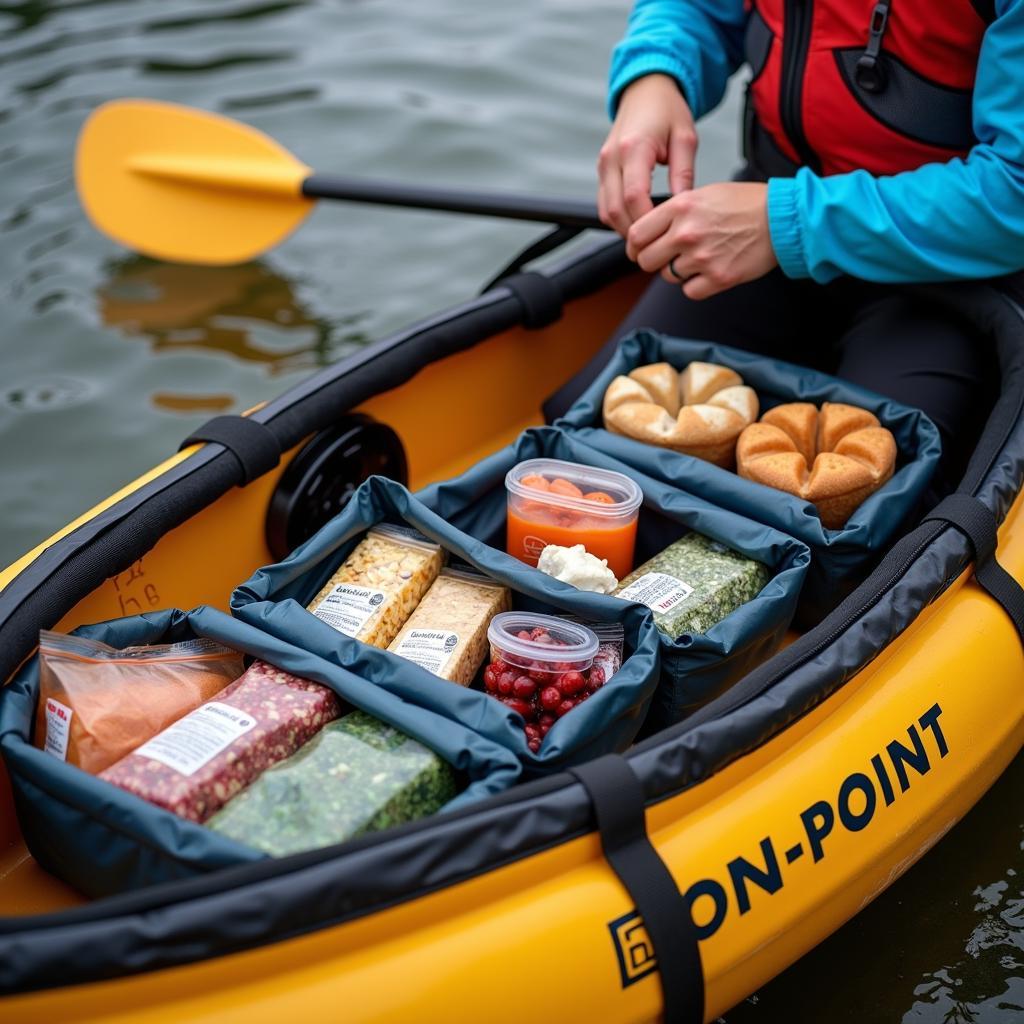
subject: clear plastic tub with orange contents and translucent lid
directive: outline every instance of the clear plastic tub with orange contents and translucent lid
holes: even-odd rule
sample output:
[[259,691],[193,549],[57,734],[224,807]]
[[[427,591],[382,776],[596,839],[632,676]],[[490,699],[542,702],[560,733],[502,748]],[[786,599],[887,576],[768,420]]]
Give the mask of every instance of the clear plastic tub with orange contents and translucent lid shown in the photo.
[[582,544],[622,578],[633,568],[643,493],[628,476],[560,459],[527,459],[505,477],[510,555],[537,565],[549,544]]

